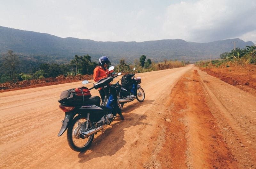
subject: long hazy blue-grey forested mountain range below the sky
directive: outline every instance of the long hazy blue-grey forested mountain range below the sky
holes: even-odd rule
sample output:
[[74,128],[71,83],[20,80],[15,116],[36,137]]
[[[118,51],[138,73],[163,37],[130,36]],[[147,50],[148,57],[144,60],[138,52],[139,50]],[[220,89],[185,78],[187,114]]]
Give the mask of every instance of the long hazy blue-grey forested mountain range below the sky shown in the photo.
[[190,60],[218,58],[221,53],[236,47],[254,45],[251,41],[226,39],[208,43],[187,42],[182,39],[164,39],[145,42],[102,42],[90,39],[60,38],[47,33],[23,31],[0,26],[0,53],[12,50],[28,56],[51,56],[56,60],[71,60],[74,56],[89,54],[96,61],[100,56],[108,56],[118,63],[121,58],[131,62],[141,55],[154,61]]

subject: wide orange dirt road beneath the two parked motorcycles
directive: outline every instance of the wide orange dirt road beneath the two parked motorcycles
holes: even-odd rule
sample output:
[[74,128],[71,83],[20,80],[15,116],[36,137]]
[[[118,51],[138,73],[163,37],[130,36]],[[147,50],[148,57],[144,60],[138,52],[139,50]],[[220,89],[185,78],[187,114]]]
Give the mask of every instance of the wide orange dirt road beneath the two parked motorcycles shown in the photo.
[[1,93],[0,168],[256,168],[255,95],[193,65],[136,76],[145,101],[80,153],[57,137],[60,92],[80,82]]

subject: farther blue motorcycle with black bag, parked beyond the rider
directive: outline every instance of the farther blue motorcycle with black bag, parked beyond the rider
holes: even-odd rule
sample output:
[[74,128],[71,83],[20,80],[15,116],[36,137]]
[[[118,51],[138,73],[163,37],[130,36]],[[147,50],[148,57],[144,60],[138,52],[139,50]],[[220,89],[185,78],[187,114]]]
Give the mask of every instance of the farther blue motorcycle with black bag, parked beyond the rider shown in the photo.
[[[135,67],[133,71],[135,71]],[[135,78],[135,74],[125,74],[121,79],[121,91],[118,95],[118,102],[123,108],[127,102],[132,102],[135,98],[139,102],[143,102],[145,99],[145,92],[141,88],[141,78]]]

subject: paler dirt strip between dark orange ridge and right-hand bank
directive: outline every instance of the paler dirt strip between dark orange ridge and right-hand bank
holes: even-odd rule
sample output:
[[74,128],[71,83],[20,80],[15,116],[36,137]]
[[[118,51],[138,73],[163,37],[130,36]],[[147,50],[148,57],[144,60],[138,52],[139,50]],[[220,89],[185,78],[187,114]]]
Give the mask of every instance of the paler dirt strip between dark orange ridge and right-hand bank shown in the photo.
[[[199,74],[200,81],[208,93],[208,95],[206,94],[208,98],[207,105],[211,108],[211,113],[216,118],[216,123],[220,128],[220,133],[224,136],[224,141],[228,148],[236,157],[240,168],[255,168],[256,123],[253,119],[255,116],[251,112],[256,109],[256,105],[253,107],[253,104],[244,104],[253,102],[255,97],[204,72],[199,71]],[[218,87],[216,84],[220,85],[224,90],[214,90]],[[223,91],[225,91],[225,95],[223,95]],[[238,95],[238,97],[233,95]],[[247,95],[250,97],[246,97]],[[241,96],[244,100],[239,98]],[[223,104],[223,100],[226,101],[225,104]],[[232,101],[234,104],[231,104],[229,101]],[[241,116],[241,114],[246,116]]]

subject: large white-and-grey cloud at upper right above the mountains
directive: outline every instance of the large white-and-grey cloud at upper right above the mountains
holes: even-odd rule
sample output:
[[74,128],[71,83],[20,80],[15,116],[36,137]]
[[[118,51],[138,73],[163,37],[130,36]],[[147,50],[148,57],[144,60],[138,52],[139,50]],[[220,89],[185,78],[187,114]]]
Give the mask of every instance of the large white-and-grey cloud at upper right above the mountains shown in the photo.
[[209,42],[256,29],[256,3],[232,0],[180,2],[167,8],[163,30],[170,39]]

